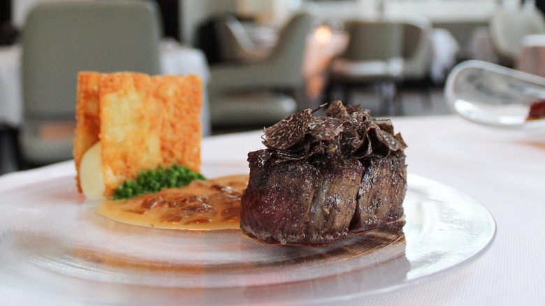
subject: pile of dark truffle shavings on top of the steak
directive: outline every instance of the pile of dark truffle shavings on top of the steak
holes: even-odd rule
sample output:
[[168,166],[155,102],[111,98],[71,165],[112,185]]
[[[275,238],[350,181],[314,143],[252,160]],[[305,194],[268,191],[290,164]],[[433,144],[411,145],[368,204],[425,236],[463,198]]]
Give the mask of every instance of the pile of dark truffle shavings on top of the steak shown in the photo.
[[324,116],[314,116],[325,107],[296,112],[268,127],[263,144],[284,160],[308,159],[316,154],[384,158],[407,147],[400,133],[393,134],[391,120],[375,119],[361,105],[344,106],[333,101]]

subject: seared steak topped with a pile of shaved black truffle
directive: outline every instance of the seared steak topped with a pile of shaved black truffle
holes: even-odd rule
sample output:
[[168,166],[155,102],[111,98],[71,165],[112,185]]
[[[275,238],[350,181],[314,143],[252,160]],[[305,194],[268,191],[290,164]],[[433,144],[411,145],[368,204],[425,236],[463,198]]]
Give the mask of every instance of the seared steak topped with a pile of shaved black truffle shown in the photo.
[[317,110],[265,129],[267,149],[248,154],[240,227],[250,237],[322,245],[402,217],[407,145],[391,122],[340,101]]

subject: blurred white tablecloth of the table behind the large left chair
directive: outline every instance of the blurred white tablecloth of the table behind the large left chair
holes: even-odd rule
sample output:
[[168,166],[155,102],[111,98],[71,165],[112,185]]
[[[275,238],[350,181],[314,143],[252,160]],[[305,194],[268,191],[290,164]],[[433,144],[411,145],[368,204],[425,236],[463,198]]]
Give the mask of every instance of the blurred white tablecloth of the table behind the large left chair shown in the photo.
[[[210,134],[206,85],[210,69],[201,50],[161,41],[161,68],[163,74],[187,75],[193,73],[203,82],[203,133]],[[19,126],[22,122],[21,48],[19,45],[0,47],[0,122]]]

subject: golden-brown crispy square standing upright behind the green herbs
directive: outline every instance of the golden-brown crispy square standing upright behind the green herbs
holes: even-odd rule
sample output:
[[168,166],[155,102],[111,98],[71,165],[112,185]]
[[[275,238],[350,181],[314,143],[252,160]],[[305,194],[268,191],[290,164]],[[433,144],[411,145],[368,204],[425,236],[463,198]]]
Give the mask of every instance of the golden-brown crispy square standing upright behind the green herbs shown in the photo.
[[195,75],[78,75],[75,166],[101,141],[105,196],[140,171],[175,163],[201,165],[201,81]]

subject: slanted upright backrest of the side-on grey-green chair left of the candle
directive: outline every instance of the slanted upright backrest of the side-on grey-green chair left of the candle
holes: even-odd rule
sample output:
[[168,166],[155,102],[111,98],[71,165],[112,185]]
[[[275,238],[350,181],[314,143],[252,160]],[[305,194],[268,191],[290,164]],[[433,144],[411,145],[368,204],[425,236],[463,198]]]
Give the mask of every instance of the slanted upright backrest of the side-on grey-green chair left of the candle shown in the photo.
[[282,27],[278,41],[271,50],[267,62],[271,73],[279,73],[294,85],[303,82],[303,63],[307,36],[312,29],[314,17],[309,13],[297,13]]

